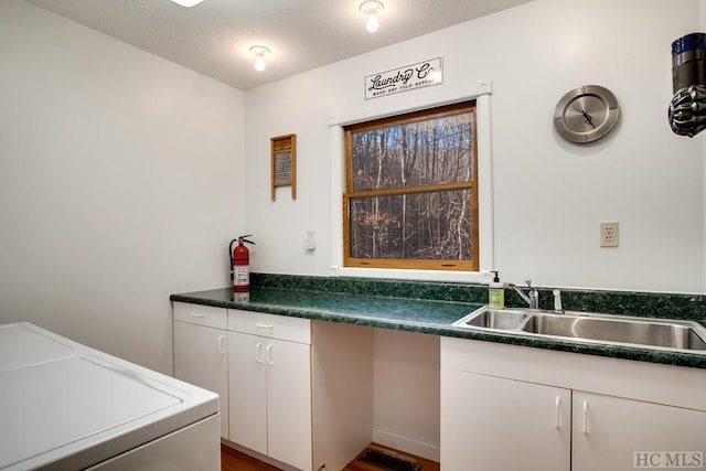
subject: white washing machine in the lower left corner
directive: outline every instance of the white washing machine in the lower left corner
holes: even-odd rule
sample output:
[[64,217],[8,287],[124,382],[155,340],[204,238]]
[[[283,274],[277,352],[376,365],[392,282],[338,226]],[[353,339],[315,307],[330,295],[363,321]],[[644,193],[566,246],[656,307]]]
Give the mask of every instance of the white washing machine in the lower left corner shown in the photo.
[[36,325],[0,325],[0,470],[220,471],[218,396]]

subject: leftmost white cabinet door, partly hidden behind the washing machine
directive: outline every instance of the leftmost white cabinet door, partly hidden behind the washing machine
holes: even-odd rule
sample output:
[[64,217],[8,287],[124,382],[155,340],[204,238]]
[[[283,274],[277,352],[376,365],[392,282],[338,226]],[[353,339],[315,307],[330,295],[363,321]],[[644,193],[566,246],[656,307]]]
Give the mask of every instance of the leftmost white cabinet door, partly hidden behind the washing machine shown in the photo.
[[174,377],[218,395],[221,437],[228,438],[227,332],[174,322]]

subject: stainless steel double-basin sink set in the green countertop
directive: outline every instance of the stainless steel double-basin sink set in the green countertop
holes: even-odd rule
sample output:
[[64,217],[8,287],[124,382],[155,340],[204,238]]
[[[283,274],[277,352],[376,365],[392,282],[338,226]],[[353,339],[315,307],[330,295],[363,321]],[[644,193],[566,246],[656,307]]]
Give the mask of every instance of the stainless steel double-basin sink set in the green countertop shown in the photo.
[[706,328],[681,320],[484,306],[453,325],[479,331],[706,354]]

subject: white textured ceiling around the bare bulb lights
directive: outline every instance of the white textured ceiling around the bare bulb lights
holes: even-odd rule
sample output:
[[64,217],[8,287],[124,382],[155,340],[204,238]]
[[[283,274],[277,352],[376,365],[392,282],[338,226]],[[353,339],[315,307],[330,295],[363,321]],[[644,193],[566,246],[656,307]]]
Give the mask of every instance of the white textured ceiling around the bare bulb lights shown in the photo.
[[[368,33],[361,0],[25,0],[246,90],[531,0],[384,0]],[[271,50],[257,72],[248,50]]]

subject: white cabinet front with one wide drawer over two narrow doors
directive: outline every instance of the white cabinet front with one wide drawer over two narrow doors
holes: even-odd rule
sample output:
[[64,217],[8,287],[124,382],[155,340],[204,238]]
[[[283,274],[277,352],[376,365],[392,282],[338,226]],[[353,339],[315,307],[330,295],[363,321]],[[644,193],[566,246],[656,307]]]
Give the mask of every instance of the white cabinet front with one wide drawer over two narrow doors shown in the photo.
[[228,311],[231,441],[312,468],[311,321]]

